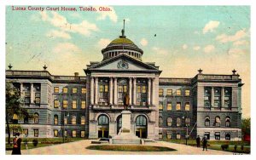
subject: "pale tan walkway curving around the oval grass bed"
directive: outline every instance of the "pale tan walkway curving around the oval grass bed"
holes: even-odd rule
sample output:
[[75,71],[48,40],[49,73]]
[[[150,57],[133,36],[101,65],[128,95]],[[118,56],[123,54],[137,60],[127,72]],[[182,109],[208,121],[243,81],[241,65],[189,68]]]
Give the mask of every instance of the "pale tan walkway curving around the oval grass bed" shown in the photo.
[[[21,150],[23,155],[232,155],[228,151],[208,150],[202,151],[202,148],[194,146],[185,146],[165,141],[157,141],[150,146],[166,146],[177,151],[96,151],[87,150],[87,146],[91,146],[91,140],[80,140],[66,144],[55,146],[44,146],[31,150]],[[11,151],[6,151],[6,154],[11,154]]]

